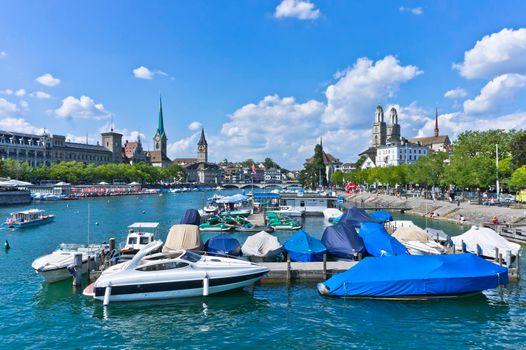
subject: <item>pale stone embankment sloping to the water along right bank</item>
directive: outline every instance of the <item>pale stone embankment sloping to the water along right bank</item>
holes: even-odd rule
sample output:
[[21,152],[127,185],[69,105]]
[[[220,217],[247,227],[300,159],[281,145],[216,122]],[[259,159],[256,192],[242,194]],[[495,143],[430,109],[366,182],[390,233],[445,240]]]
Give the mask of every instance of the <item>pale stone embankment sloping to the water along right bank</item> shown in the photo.
[[490,223],[494,216],[499,223],[526,226],[526,210],[498,206],[470,204],[467,202],[450,203],[448,201],[431,200],[419,197],[396,197],[386,194],[361,192],[345,194],[349,206],[378,207],[380,208],[410,208],[409,214],[429,216],[435,213],[438,216],[431,220],[444,220],[458,223],[458,218],[464,216],[464,225],[482,225]]

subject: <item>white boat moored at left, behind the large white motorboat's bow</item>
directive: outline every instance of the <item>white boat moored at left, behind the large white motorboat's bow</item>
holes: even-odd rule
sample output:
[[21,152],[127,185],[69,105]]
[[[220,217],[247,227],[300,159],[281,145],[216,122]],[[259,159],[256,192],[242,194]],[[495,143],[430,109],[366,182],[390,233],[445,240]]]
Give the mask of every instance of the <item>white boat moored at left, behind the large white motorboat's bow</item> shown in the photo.
[[82,273],[84,274],[88,271],[88,262],[91,263],[90,267],[94,267],[97,255],[107,249],[107,245],[101,244],[62,243],[51,254],[35,259],[31,267],[41,274],[46,282],[55,283],[72,277],[68,267],[73,264],[75,254],[82,254]]

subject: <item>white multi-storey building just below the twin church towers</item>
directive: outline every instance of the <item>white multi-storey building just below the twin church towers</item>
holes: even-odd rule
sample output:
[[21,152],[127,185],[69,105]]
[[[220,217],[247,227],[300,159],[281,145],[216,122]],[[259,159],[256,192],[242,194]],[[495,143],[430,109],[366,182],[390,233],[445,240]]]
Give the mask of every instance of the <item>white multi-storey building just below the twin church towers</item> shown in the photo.
[[401,142],[389,143],[376,150],[375,166],[386,167],[402,164],[414,164],[420,157],[428,154],[428,148],[405,139]]

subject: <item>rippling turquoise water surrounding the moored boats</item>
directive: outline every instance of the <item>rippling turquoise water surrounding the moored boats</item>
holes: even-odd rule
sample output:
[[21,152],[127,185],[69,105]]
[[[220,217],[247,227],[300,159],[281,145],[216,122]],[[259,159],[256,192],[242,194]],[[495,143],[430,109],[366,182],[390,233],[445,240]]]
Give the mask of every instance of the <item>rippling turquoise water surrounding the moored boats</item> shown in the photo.
[[[182,193],[38,203],[56,214],[54,223],[0,230],[12,247],[0,252],[0,348],[526,348],[524,281],[501,294],[449,301],[339,300],[319,296],[314,284],[293,283],[207,298],[113,303],[104,309],[70,281],[49,285],[31,269],[36,257],[57,244],[87,241],[88,204],[90,238],[100,242],[124,240],[127,225],[135,221],[160,222],[164,239],[185,209],[203,201],[202,193]],[[2,208],[0,217],[13,210]],[[462,232],[448,223],[428,224]],[[308,218],[305,229],[321,236],[323,220]],[[283,241],[290,233],[278,236]],[[244,241],[246,234],[236,237]]]

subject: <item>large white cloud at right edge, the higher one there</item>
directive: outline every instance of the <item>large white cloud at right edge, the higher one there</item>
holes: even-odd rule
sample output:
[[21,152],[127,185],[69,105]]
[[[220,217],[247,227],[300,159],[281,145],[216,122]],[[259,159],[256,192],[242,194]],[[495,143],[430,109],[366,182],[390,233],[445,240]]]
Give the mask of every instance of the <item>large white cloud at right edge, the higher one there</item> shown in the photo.
[[504,28],[484,36],[464,53],[464,62],[454,63],[453,68],[468,79],[526,73],[526,28]]

